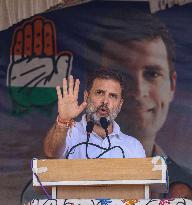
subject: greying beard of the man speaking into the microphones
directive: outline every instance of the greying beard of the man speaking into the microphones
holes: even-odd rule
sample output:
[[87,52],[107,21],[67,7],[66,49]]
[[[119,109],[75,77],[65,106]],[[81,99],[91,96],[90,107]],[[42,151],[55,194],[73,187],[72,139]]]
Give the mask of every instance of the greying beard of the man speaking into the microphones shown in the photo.
[[[106,114],[105,116],[100,116],[99,111],[100,110],[105,110]],[[121,111],[120,106],[118,106],[116,109],[113,111],[110,111],[107,104],[102,103],[100,106],[96,107],[92,100],[88,98],[88,104],[86,107],[86,114],[89,120],[92,120],[94,124],[101,125],[100,124],[100,118],[105,117],[109,123],[112,123],[119,112]]]

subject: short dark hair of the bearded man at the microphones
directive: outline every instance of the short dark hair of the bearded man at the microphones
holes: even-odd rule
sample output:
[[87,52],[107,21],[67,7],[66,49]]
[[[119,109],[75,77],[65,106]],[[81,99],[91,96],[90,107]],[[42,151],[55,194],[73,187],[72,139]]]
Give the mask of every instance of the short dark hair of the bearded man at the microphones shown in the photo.
[[110,68],[101,68],[99,70],[95,71],[88,71],[87,72],[87,91],[90,91],[93,82],[95,79],[106,79],[106,80],[114,80],[119,82],[121,86],[121,97],[125,97],[125,78],[123,76],[123,73],[118,70],[110,69]]

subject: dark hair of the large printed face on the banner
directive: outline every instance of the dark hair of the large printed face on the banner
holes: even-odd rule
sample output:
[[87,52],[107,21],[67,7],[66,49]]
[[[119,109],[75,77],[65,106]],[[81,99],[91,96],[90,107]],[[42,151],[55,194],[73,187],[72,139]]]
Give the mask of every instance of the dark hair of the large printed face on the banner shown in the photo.
[[175,42],[167,26],[158,17],[125,8],[104,14],[102,25],[103,27],[106,26],[101,34],[103,45],[107,39],[120,44],[131,41],[162,39],[167,50],[170,73],[175,71]]

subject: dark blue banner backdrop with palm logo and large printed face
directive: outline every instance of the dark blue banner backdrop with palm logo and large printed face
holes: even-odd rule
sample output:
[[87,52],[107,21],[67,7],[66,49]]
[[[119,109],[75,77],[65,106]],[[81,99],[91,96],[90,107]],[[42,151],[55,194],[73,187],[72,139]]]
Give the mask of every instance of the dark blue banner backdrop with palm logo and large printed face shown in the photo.
[[[134,15],[135,9],[149,13],[147,5],[91,2],[43,13],[0,32],[1,200],[19,203],[31,178],[30,160],[45,157],[43,138],[57,115],[55,86],[69,74],[79,78],[82,102],[87,73],[102,68],[120,70],[127,79],[128,97],[117,119],[121,129],[137,137],[148,156],[159,154],[160,147],[169,157],[170,180],[192,185],[192,5],[153,15],[167,25],[176,43],[177,77],[173,79],[166,79],[162,71],[166,67],[163,56],[158,56],[165,49],[162,42],[146,37],[147,42],[153,40],[150,48],[130,43],[133,36],[137,40],[147,35],[147,28],[153,26],[145,24],[142,16],[138,26],[139,17]],[[143,66],[149,54],[150,60],[159,59],[159,67]],[[137,74],[142,77],[137,78],[140,68]],[[146,82],[136,84],[138,79]],[[129,97],[136,85],[137,91],[148,89],[146,101]]]

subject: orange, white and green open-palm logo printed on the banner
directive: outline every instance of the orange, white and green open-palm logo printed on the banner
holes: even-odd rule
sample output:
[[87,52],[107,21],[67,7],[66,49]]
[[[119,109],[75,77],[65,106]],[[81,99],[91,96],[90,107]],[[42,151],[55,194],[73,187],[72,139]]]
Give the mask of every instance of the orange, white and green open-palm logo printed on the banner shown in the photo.
[[34,17],[17,27],[12,37],[7,86],[15,109],[43,107],[57,100],[55,87],[72,69],[69,51],[57,52],[54,23]]

